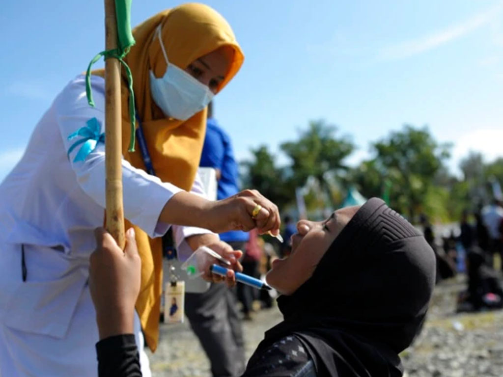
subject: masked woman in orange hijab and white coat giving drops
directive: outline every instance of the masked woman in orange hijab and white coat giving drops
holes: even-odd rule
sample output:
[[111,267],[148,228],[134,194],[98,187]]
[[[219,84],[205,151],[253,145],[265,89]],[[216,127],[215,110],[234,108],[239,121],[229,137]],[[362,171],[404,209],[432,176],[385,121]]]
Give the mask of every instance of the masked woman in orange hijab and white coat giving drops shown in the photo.
[[[134,79],[142,131],[137,135],[143,136],[138,144],[144,143],[135,152],[127,150],[131,120],[124,79],[124,217],[142,259],[134,332],[148,376],[141,329],[155,350],[159,237],[173,225],[177,247],[207,245],[239,268],[240,252],[211,232],[258,228],[277,234],[280,220],[277,207],[256,191],[207,201],[197,178],[206,106],[243,61],[227,22],[207,6],[186,4],[146,20],[133,35],[136,45],[125,60]],[[0,184],[1,375],[97,373],[99,337],[87,280],[96,246],[93,230],[104,219],[103,71],[93,72],[91,85],[96,107],[87,104],[85,78],[70,81]],[[206,278],[217,280],[210,273]],[[227,280],[232,284],[232,273]],[[112,332],[122,321],[108,313],[96,316]]]

